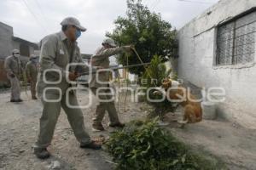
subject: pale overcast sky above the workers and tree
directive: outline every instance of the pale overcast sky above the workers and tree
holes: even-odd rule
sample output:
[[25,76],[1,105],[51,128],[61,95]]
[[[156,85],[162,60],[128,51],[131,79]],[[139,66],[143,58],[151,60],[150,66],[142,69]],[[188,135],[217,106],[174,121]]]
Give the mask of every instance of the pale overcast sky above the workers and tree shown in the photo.
[[[143,0],[150,10],[162,15],[177,29],[218,0]],[[67,16],[77,17],[87,31],[79,38],[82,53],[93,54],[113,20],[125,15],[125,0],[0,0],[0,21],[13,26],[16,37],[39,42],[60,31]]]

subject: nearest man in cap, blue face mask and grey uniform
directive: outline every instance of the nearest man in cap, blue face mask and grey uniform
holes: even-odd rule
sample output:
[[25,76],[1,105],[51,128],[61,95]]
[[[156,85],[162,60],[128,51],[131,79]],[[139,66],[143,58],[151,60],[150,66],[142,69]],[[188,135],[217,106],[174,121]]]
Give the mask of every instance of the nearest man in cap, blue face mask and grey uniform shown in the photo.
[[64,19],[61,26],[60,32],[44,37],[41,41],[37,90],[44,109],[40,118],[38,141],[34,147],[35,155],[41,159],[50,156],[47,147],[53,138],[61,108],[67,114],[68,122],[80,147],[101,149],[101,144],[91,140],[90,135],[86,133],[84,116],[79,108],[75,92],[68,90],[72,86],[70,81],[75,81],[79,77],[79,74],[75,72],[78,66],[81,66],[79,70],[89,71],[90,69],[85,64],[72,65],[67,68],[68,64],[83,63],[76,41],[81,31],[86,31],[86,29],[80,25],[79,20],[73,17]]

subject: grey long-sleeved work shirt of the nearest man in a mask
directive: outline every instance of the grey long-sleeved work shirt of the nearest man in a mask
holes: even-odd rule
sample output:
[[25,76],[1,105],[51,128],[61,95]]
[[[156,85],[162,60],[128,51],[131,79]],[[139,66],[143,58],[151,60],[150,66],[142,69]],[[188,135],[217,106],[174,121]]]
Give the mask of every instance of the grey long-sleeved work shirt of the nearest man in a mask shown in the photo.
[[[44,37],[41,43],[42,48],[39,59],[40,67],[37,83],[38,94],[42,94],[44,88],[48,87],[59,88],[61,89],[62,94],[64,94],[67,88],[71,86],[70,83],[67,82],[69,72],[76,71],[78,68],[79,71],[89,71],[90,68],[88,65],[84,64],[77,42],[70,42],[63,31]],[[67,65],[70,63],[80,63],[84,65],[73,65],[67,68]],[[49,71],[49,69],[52,71]],[[60,74],[56,71],[59,71]],[[61,82],[58,82],[60,78]],[[45,82],[44,79],[48,82],[56,83],[51,84]]]

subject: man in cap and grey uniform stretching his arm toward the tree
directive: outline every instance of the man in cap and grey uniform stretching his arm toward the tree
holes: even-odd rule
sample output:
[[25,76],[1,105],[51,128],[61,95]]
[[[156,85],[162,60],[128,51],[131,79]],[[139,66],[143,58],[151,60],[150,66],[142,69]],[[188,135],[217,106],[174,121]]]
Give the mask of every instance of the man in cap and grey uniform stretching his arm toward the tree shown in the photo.
[[[102,47],[96,51],[91,58],[91,65],[101,66],[102,68],[109,67],[109,57],[115,54],[121,54],[125,51],[130,51],[131,46],[116,47],[113,39],[107,38],[102,42]],[[99,105],[96,106],[96,114],[93,118],[92,130],[103,131],[102,120],[105,116],[105,111],[108,111],[110,122],[109,127],[124,127],[125,124],[119,121],[119,116],[116,111],[113,95],[113,90],[109,86],[109,71],[98,71],[97,76],[92,75],[89,83],[93,94],[100,100]],[[107,83],[106,83],[107,82]]]

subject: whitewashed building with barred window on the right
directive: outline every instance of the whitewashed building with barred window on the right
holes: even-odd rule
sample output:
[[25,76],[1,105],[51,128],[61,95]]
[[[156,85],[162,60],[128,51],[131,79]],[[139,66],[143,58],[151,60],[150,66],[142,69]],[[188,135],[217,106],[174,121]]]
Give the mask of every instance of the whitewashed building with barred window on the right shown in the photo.
[[256,128],[256,0],[220,0],[178,31],[177,74],[223,87],[218,116]]

